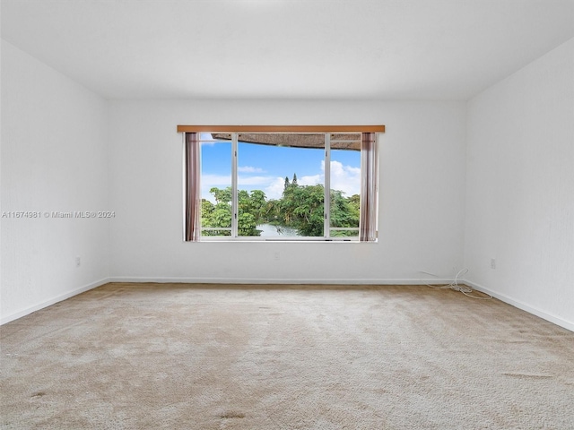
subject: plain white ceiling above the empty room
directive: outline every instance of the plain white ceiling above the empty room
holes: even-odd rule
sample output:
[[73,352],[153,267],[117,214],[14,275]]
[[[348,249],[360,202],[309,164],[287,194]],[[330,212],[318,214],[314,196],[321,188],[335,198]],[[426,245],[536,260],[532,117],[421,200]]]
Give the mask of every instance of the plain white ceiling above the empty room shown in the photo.
[[2,0],[2,38],[107,99],[469,99],[574,0]]

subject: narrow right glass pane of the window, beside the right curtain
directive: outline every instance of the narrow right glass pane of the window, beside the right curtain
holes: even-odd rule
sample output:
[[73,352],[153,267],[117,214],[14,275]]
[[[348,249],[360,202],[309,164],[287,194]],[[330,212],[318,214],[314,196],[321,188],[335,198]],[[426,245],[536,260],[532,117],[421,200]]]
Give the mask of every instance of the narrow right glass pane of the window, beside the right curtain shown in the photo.
[[359,236],[361,133],[331,135],[329,236]]

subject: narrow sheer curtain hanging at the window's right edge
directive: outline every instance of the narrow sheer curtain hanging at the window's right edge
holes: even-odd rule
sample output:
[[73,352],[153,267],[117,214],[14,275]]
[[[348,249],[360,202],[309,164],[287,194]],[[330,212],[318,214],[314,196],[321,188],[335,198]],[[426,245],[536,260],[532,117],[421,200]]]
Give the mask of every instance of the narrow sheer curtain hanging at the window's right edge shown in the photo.
[[377,133],[361,133],[361,242],[377,240],[378,211],[378,144]]

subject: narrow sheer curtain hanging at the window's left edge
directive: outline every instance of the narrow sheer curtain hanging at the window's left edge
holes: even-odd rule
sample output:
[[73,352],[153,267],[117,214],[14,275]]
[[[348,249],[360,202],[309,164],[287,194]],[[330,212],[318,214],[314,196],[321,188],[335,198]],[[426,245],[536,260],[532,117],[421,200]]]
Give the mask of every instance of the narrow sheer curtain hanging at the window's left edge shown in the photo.
[[197,133],[186,133],[186,242],[199,240],[201,220],[200,156]]

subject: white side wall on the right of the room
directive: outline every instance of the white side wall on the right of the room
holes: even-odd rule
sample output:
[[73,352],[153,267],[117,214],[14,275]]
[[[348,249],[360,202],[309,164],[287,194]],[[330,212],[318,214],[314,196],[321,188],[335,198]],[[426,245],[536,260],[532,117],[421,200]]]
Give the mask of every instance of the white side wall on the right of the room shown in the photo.
[[574,39],[472,99],[467,145],[468,280],[574,330]]

